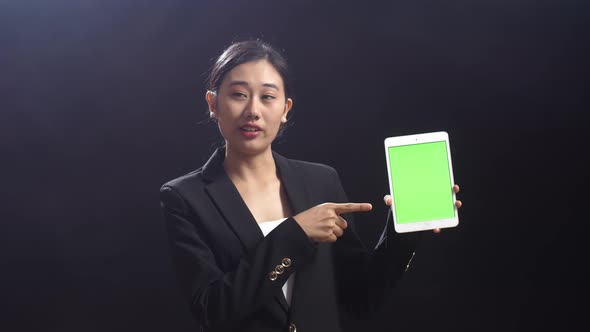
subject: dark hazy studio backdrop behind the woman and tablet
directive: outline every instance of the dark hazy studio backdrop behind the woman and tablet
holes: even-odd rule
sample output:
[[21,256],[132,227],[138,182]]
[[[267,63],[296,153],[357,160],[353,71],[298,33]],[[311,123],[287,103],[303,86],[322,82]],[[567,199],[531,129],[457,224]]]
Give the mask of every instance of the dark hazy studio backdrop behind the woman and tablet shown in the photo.
[[428,234],[387,308],[351,330],[585,324],[588,7],[0,1],[2,324],[195,329],[158,189],[220,142],[205,75],[243,38],[284,50],[294,74],[275,149],[333,165],[374,204],[358,216],[368,244],[386,215],[383,139],[449,132],[460,225]]

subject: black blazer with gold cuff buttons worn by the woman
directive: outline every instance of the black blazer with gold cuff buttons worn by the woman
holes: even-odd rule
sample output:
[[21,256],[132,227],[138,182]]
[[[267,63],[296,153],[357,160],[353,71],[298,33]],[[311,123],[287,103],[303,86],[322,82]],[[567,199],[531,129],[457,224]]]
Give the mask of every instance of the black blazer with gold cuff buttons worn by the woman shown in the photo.
[[[161,207],[183,295],[202,331],[341,331],[341,315],[366,315],[407,269],[417,234],[385,227],[367,250],[349,227],[312,242],[293,218],[266,237],[223,169],[218,149],[198,170],[164,184]],[[294,214],[347,202],[337,172],[273,152]],[[293,272],[291,305],[282,286]]]

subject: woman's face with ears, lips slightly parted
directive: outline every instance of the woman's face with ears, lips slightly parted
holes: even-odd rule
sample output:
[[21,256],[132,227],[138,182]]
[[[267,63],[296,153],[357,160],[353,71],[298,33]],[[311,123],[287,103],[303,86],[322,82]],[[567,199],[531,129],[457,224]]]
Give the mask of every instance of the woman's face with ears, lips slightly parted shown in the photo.
[[283,79],[266,60],[246,62],[228,72],[207,103],[228,151],[254,155],[270,149],[293,102]]

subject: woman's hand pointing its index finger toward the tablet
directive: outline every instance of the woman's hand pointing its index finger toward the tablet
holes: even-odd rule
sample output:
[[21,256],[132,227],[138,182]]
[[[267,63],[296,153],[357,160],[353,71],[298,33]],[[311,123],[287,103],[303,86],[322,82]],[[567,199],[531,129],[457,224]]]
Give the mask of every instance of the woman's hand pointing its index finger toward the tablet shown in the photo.
[[370,211],[372,208],[370,203],[323,203],[293,218],[312,241],[335,242],[348,227],[340,214]]

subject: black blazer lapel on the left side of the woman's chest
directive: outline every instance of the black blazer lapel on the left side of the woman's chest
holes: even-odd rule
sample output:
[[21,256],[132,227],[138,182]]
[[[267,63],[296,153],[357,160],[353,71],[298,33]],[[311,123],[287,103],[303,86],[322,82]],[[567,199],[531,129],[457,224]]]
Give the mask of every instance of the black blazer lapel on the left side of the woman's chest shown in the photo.
[[262,240],[263,234],[238,189],[225,173],[224,158],[225,149],[217,149],[203,166],[203,177],[209,181],[206,190],[246,251],[250,251]]

